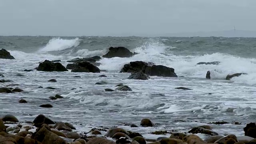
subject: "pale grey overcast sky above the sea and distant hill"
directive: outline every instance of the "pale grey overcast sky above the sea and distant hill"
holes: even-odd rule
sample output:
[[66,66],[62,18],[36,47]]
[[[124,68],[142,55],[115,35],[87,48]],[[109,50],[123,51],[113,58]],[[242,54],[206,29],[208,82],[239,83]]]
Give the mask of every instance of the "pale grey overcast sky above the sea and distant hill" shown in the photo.
[[256,30],[256,0],[1,0],[0,35]]

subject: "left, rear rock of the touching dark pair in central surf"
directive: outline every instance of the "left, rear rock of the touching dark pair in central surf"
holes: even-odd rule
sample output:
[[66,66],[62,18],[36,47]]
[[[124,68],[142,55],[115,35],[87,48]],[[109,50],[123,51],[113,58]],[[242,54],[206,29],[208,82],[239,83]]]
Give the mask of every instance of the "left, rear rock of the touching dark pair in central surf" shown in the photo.
[[147,66],[153,66],[154,63],[152,62],[142,62],[142,61],[135,61],[130,62],[129,64],[125,64],[124,67],[121,69],[120,72],[140,72],[144,70]]

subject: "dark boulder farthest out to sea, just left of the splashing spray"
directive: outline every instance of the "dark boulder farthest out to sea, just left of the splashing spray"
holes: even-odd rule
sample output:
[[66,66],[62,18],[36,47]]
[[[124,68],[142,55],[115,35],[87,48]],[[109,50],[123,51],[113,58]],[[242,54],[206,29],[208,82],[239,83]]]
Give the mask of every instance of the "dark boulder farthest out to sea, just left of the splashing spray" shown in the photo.
[[124,47],[110,47],[109,52],[105,55],[103,55],[103,58],[114,58],[114,57],[120,57],[120,58],[129,58],[131,56],[134,56],[134,53],[130,52],[127,48]]

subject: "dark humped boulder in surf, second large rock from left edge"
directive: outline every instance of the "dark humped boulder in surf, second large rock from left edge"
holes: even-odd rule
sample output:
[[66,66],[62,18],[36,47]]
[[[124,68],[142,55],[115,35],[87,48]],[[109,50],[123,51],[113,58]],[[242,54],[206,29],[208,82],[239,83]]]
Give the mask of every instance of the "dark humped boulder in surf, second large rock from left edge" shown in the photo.
[[68,71],[64,66],[62,66],[59,62],[51,62],[50,60],[45,60],[44,62],[41,62],[36,69],[38,71],[44,71],[44,72],[65,72]]

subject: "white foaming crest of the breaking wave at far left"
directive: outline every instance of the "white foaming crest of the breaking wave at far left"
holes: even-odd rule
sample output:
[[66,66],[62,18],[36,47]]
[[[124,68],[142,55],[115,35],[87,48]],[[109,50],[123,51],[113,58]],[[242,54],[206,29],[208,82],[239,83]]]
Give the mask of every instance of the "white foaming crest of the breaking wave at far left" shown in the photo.
[[71,40],[62,38],[52,38],[44,48],[40,49],[39,52],[52,52],[61,51],[68,48],[77,47],[80,44],[80,39],[75,38]]

